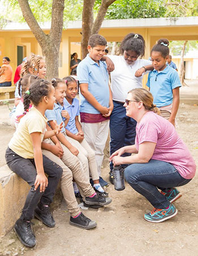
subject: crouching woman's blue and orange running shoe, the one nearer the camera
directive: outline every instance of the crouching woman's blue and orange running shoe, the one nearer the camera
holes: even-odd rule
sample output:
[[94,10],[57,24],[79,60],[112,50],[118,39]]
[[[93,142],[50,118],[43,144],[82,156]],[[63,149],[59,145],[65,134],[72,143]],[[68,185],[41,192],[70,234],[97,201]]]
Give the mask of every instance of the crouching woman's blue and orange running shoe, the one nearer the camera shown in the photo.
[[170,204],[169,208],[167,209],[154,208],[152,212],[144,215],[144,219],[153,223],[160,223],[177,215],[177,213],[178,210],[174,207],[173,204]]

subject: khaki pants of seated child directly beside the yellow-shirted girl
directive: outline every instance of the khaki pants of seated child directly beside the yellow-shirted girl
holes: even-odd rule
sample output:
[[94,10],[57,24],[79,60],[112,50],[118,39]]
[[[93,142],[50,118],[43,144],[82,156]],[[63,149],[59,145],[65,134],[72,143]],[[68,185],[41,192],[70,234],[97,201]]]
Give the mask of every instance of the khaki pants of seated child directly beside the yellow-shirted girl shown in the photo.
[[[51,140],[50,144],[54,145]],[[64,150],[64,154],[61,159],[45,149],[42,150],[42,153],[51,161],[62,167],[63,174],[61,177],[61,190],[64,196],[64,200],[66,201],[68,211],[70,212],[70,215],[74,217],[80,213],[80,209],[75,198],[72,182],[73,178],[75,179],[75,182],[79,187],[80,194],[83,196],[83,198],[93,195],[95,191],[93,190],[89,181],[87,181],[78,158],[74,156],[74,154],[72,154],[70,150],[66,148],[66,146],[61,146]]]

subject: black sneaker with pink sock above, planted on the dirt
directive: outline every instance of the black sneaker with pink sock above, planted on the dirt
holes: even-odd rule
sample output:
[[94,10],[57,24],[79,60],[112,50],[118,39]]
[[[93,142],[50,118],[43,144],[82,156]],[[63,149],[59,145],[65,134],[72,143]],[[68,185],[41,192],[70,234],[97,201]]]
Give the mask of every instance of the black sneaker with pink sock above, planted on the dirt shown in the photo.
[[70,225],[83,229],[92,229],[96,228],[97,223],[96,221],[90,220],[81,212],[80,215],[76,218],[70,217]]

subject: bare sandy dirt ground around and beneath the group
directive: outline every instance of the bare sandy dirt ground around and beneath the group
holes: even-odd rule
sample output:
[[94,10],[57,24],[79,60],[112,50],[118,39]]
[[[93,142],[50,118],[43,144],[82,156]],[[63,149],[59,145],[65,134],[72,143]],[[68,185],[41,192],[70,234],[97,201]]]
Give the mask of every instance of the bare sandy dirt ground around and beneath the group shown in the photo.
[[[184,93],[188,89],[183,90]],[[197,95],[196,95],[197,97]],[[0,106],[0,166],[14,129],[8,125],[8,108]],[[177,131],[190,149],[198,166],[198,106],[180,104]],[[102,177],[108,180],[107,150]],[[38,220],[35,223],[37,246],[28,249],[20,244],[12,231],[0,238],[0,255],[198,255],[198,174],[186,186],[180,187],[182,198],[174,203],[178,214],[163,223],[153,224],[143,219],[152,205],[126,184],[123,191],[115,191],[109,184],[113,202],[100,209],[82,210],[97,221],[97,228],[83,230],[69,225],[70,215],[64,202],[55,209],[55,228],[48,228]]]

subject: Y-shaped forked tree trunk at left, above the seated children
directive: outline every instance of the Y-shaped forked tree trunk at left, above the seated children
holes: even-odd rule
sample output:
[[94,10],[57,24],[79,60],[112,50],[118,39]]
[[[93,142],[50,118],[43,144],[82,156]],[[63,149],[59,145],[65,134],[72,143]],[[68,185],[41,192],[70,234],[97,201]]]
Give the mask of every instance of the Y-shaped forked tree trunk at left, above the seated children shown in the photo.
[[25,21],[41,46],[46,57],[47,77],[58,77],[59,48],[63,30],[64,0],[53,0],[51,13],[51,29],[46,35],[38,25],[28,0],[18,0]]

